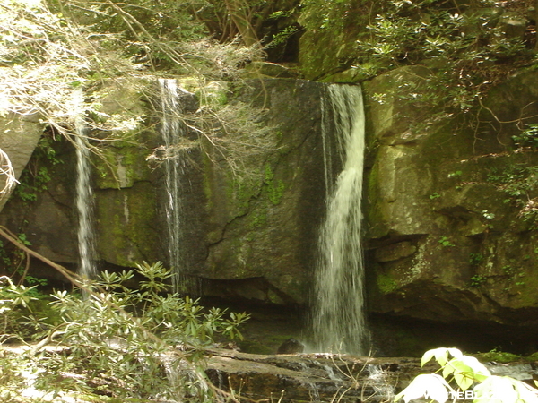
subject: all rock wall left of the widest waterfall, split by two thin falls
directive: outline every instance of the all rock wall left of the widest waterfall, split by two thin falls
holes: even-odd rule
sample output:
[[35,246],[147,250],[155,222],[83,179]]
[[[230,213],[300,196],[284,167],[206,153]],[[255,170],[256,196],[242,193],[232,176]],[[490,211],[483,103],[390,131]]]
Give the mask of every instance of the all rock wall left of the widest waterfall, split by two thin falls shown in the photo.
[[[263,133],[264,141],[252,141],[263,144],[263,150],[233,141],[221,149],[203,138],[178,161],[187,179],[181,194],[187,273],[205,296],[308,302],[316,231],[324,211],[324,90],[325,84],[313,81],[251,81],[232,103],[252,102],[267,109],[263,119],[270,130]],[[143,107],[136,93],[121,91],[118,97]],[[92,159],[102,269],[168,260],[163,167],[150,167],[146,161],[161,143],[157,126],[128,141],[102,144],[100,156]],[[35,189],[35,201],[13,197],[2,222],[24,233],[49,259],[74,264],[74,152],[67,142],[55,148],[63,164],[36,161],[51,175],[46,189]]]

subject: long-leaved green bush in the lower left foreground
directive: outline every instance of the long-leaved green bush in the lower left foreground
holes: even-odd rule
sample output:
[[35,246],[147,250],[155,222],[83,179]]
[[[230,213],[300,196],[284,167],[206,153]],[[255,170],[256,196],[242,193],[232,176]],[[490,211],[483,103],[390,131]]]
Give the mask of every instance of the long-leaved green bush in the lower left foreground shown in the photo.
[[[214,401],[219,391],[205,379],[201,348],[219,335],[241,338],[244,313],[204,309],[167,290],[171,273],[161,263],[138,265],[139,289],[127,288],[133,271],[103,272],[74,291],[57,291],[48,318],[34,312],[47,302],[34,288],[0,284],[2,341],[28,339],[29,347],[0,354],[0,396],[13,401],[53,401],[76,391],[121,399]],[[32,300],[39,304],[32,304]],[[103,398],[104,399],[104,398]]]

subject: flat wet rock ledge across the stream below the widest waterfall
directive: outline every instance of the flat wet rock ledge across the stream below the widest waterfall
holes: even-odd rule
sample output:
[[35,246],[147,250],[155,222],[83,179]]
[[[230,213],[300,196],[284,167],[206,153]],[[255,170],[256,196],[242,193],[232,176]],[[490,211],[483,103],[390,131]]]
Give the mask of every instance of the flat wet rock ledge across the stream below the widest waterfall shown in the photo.
[[[234,350],[208,351],[208,378],[245,401],[389,402],[419,373],[433,373],[437,364],[421,367],[420,358],[365,357],[332,354],[256,355]],[[531,382],[535,363],[487,364],[490,372]]]

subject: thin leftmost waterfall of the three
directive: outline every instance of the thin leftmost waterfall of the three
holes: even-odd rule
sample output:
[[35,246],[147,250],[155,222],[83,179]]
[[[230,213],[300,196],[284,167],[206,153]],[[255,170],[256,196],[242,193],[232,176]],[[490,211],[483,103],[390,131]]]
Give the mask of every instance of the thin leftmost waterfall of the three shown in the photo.
[[74,90],[74,143],[76,148],[76,210],[78,215],[77,240],[79,249],[79,274],[92,279],[95,267],[95,233],[93,228],[93,188],[91,187],[90,150],[83,119],[82,89]]

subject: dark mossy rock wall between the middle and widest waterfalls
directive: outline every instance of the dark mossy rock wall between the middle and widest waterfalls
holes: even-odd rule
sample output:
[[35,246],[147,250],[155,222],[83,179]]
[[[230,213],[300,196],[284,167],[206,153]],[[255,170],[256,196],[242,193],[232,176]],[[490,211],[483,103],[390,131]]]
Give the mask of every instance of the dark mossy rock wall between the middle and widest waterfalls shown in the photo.
[[319,104],[325,87],[295,80],[253,85],[242,98],[268,108],[273,150],[247,160],[249,172],[261,173],[247,188],[235,182],[230,170],[206,171],[211,231],[202,275],[263,278],[266,284],[256,299],[305,303],[325,194]]

